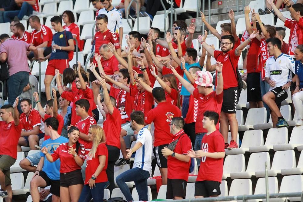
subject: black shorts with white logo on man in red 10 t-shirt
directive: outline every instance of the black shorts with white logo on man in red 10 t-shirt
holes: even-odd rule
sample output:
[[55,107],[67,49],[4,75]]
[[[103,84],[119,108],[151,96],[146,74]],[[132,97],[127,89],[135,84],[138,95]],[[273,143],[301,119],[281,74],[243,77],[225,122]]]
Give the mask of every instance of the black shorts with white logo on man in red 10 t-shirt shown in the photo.
[[205,180],[195,183],[195,196],[210,197],[220,194],[220,182]]

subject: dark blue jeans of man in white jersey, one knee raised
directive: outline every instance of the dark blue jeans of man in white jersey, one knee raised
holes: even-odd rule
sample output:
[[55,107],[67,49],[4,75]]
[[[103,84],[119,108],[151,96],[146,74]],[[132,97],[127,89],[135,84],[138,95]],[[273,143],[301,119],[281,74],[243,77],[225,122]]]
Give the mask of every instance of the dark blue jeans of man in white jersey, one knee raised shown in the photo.
[[138,167],[132,168],[118,175],[116,183],[122,191],[127,201],[134,201],[132,194],[125,182],[135,182],[139,195],[139,200],[148,201],[147,195],[147,179],[150,177],[149,172]]

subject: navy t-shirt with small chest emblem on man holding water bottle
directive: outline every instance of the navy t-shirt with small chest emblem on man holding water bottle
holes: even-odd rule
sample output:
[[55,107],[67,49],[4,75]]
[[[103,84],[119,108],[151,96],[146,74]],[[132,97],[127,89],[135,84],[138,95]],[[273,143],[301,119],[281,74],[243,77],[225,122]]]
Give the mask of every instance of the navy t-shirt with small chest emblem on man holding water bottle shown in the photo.
[[[73,35],[70,31],[61,31],[53,35],[53,41],[58,46],[69,46],[68,40],[73,39]],[[55,53],[52,53],[50,60],[53,59],[68,59],[68,51],[56,49]]]

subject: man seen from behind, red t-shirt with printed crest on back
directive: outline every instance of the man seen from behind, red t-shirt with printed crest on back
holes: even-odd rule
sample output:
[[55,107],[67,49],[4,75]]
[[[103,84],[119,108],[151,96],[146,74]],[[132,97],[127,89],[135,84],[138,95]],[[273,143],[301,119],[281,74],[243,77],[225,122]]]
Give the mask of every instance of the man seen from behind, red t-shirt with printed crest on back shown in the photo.
[[158,105],[148,113],[145,113],[144,122],[145,125],[154,122],[154,154],[157,160],[157,165],[160,168],[162,184],[167,184],[167,159],[162,155],[161,150],[168,146],[171,142],[171,138],[173,137],[170,133],[168,124],[170,124],[172,118],[181,117],[181,111],[177,106],[166,101],[163,88],[154,88],[152,90],[152,95],[155,103]]

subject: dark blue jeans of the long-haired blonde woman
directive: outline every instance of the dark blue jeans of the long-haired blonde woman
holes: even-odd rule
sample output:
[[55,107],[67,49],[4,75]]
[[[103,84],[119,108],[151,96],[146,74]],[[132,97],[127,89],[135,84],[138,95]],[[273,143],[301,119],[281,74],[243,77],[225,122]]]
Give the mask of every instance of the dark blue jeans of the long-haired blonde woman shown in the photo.
[[106,182],[95,183],[96,187],[92,189],[88,184],[84,185],[78,201],[89,202],[93,198],[94,202],[103,202],[105,184]]

